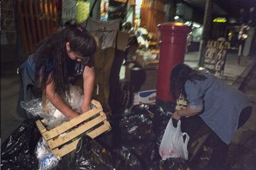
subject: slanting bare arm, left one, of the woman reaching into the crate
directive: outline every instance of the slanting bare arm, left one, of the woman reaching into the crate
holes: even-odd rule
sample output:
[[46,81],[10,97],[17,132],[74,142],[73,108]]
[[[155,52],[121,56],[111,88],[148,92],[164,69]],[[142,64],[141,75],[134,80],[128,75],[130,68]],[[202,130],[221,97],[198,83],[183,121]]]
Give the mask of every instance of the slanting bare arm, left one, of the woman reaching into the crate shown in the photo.
[[69,119],[73,119],[76,116],[79,116],[79,113],[75,112],[70,108],[64,100],[54,91],[53,82],[46,85],[45,89],[46,98],[49,99],[51,103],[53,103],[54,107],[56,107],[62,114],[67,116]]

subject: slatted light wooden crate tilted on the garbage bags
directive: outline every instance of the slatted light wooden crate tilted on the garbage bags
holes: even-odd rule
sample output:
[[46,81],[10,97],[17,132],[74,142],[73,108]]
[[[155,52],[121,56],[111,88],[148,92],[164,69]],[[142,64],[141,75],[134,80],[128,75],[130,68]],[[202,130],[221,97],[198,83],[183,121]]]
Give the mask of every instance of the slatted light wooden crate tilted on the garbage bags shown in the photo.
[[[57,159],[75,150],[80,137],[79,139],[75,138],[81,134],[86,133],[88,136],[95,138],[111,129],[100,102],[92,100],[92,104],[95,106],[92,110],[49,131],[43,125],[43,120],[36,121],[36,126]],[[80,126],[77,126],[79,124]],[[70,140],[74,141],[70,142]],[[68,142],[69,144],[67,144]]]

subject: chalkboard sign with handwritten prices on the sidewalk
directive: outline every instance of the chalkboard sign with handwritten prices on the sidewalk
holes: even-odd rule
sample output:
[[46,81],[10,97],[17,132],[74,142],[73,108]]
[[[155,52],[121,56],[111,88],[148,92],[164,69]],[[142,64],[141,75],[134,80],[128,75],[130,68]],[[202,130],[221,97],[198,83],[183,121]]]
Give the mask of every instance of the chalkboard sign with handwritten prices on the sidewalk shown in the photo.
[[224,70],[227,49],[227,41],[208,41],[203,67],[211,73],[221,73]]

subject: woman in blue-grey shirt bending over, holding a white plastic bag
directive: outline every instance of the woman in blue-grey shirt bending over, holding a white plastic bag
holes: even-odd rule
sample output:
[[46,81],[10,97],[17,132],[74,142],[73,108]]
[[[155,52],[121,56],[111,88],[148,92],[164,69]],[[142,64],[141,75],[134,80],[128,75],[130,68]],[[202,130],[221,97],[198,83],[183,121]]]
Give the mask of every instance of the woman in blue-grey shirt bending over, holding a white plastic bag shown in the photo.
[[172,117],[192,116],[181,121],[182,130],[189,134],[190,139],[197,135],[202,127],[200,124],[210,127],[214,145],[208,168],[222,168],[234,133],[252,113],[252,103],[241,91],[183,63],[171,71],[171,92],[174,100],[182,95],[189,102],[186,108],[175,111]]

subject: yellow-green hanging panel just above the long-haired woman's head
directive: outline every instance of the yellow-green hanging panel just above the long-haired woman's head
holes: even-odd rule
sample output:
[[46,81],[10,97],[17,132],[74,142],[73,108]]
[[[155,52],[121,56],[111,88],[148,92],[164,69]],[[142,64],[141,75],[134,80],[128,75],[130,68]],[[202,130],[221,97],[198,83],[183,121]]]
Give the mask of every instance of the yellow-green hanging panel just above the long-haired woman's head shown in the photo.
[[77,23],[85,21],[90,14],[90,2],[77,1]]

